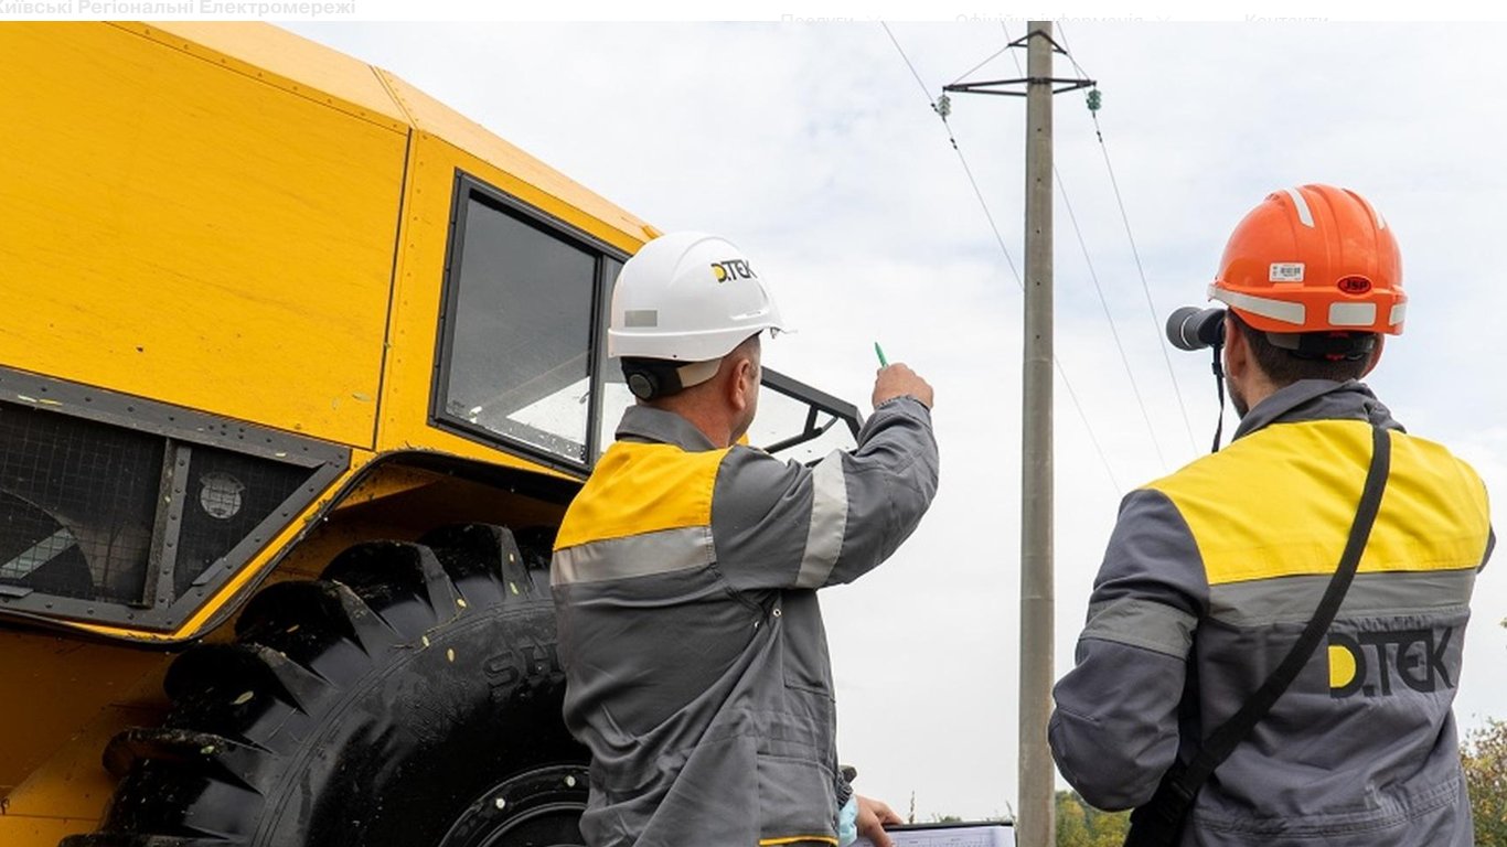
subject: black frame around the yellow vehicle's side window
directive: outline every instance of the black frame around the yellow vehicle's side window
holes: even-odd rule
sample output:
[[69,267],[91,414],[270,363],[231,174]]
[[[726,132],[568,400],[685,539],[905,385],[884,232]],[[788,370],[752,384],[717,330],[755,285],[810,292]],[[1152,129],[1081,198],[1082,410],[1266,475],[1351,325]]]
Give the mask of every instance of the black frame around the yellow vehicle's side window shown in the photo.
[[[576,247],[592,256],[595,268],[592,271],[591,291],[591,332],[586,339],[586,384],[589,405],[586,410],[586,433],[583,443],[583,458],[574,461],[562,454],[552,452],[538,445],[532,445],[503,433],[496,433],[478,424],[472,424],[446,410],[446,399],[451,389],[451,365],[455,351],[455,309],[460,301],[461,259],[466,255],[466,219],[470,213],[470,202],[476,200],[499,214],[529,226],[543,235]],[[523,199],[491,185],[481,178],[455,169],[454,190],[451,193],[449,235],[445,244],[445,277],[440,289],[439,332],[436,333],[434,371],[429,384],[429,414],[428,422],[436,430],[460,436],[469,442],[502,449],[520,458],[543,464],[553,470],[561,470],[585,478],[597,463],[600,454],[601,430],[601,384],[603,363],[606,359],[606,323],[610,303],[606,301],[612,280],[607,279],[607,259],[619,265],[628,261],[630,253],[609,244],[607,241],[574,226],[559,217],[540,209]],[[549,433],[553,434],[553,433]]]

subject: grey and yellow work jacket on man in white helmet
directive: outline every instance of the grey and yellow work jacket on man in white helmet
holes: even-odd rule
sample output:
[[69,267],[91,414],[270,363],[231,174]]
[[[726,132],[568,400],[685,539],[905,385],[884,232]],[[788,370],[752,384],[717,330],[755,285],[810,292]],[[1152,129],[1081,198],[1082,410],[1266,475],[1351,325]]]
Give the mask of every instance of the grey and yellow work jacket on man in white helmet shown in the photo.
[[809,469],[627,411],[550,576],[565,722],[592,755],[586,844],[836,844],[850,788],[815,589],[894,553],[936,484],[913,398]]

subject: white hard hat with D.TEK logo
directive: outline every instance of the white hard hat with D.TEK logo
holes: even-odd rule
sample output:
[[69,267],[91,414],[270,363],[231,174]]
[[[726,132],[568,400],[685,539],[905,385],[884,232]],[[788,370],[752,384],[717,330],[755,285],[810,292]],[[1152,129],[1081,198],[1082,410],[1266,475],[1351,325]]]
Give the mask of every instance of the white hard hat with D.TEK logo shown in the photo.
[[704,232],[671,232],[622,265],[607,356],[705,362],[763,330],[779,309],[743,250]]

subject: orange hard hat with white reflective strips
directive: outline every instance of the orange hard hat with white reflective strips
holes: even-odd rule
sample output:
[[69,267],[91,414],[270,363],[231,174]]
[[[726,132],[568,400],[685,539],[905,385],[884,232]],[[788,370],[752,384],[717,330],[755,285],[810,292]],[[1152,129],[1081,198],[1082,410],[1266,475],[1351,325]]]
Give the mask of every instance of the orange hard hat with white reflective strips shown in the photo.
[[1267,194],[1230,235],[1209,298],[1272,333],[1400,335],[1408,303],[1386,220],[1334,185]]

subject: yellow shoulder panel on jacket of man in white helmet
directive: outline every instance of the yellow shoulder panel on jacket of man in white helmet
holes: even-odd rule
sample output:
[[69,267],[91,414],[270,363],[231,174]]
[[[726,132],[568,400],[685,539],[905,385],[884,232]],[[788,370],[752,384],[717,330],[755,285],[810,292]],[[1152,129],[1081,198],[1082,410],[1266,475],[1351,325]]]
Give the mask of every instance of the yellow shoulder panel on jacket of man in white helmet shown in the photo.
[[726,449],[618,442],[601,455],[561,524],[556,549],[662,529],[711,526],[711,490]]

